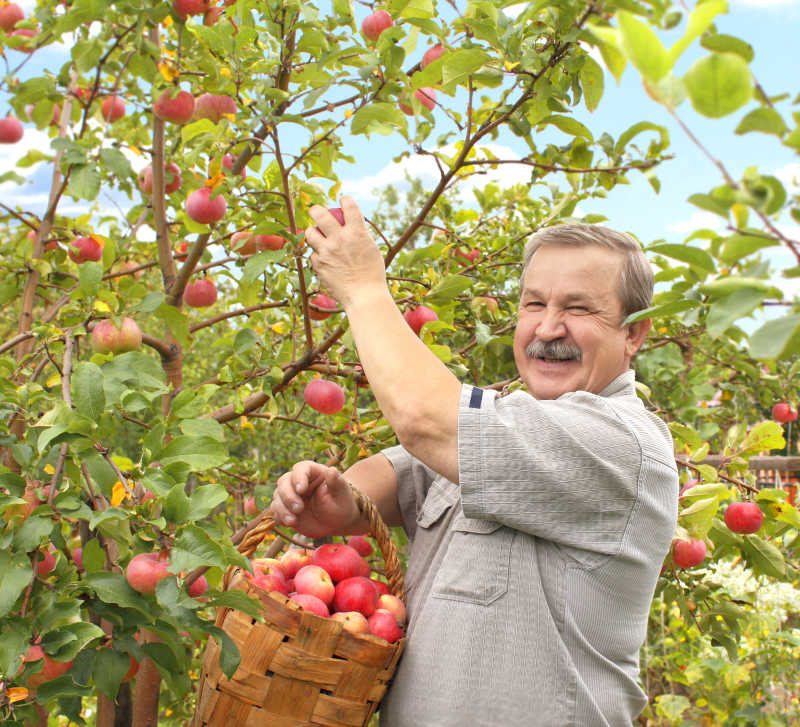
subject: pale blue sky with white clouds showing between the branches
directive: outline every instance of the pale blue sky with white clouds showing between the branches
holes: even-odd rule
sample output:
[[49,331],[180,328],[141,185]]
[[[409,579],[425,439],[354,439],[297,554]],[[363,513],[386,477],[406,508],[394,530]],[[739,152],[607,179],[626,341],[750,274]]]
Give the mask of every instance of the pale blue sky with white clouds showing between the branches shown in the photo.
[[[31,11],[32,3],[29,0],[22,4],[26,12]],[[363,8],[357,12],[366,13]],[[720,16],[717,25],[721,32],[739,36],[754,46],[756,56],[751,68],[768,93],[788,92],[792,97],[800,91],[797,84],[793,83],[797,68],[800,67],[797,43],[800,38],[800,0],[730,0],[730,12]],[[673,43],[680,32],[676,30],[668,34],[664,38],[665,43]],[[420,54],[423,50],[420,49]],[[698,49],[695,42],[681,59],[676,71],[683,73],[700,52],[703,51]],[[20,54],[10,52],[9,57],[12,63],[18,62]],[[52,51],[40,52],[32,60],[35,62],[30,64],[30,73],[38,73],[42,67],[57,70],[63,62],[63,56]],[[26,74],[21,74],[21,77],[26,77]],[[789,103],[784,101],[779,107],[787,116]],[[3,104],[1,97],[0,104]],[[725,162],[734,178],[738,178],[747,166],[757,164],[762,173],[776,174],[788,184],[793,173],[800,173],[800,164],[790,149],[781,146],[772,136],[736,136],[733,133],[739,119],[750,108],[753,108],[752,104],[726,119],[713,122],[695,113],[688,101],[679,108],[678,113],[709,151]],[[4,111],[0,106],[0,113]],[[666,111],[645,95],[635,69],[627,68],[619,85],[607,74],[606,91],[599,108],[593,114],[585,110],[579,113],[595,135],[608,131],[617,137],[632,123],[642,119],[662,124],[670,131],[671,152],[676,155],[674,160],[666,162],[658,170],[662,183],[659,194],[654,192],[641,174],[631,174],[630,185],[616,188],[606,200],[583,204],[580,212],[603,214],[609,218],[608,224],[634,233],[645,243],[658,238],[680,242],[693,229],[719,226],[719,218],[703,213],[686,202],[689,194],[707,191],[721,183],[719,171],[688,140]],[[522,142],[513,136],[501,137],[496,143],[506,147],[510,154],[521,155],[526,151]],[[48,145],[47,135],[30,125],[23,142],[13,147],[0,145],[0,170],[11,168],[14,160],[28,148],[44,148]],[[397,136],[350,139],[346,151],[358,162],[356,165],[343,164],[339,168],[340,177],[344,180],[342,192],[354,195],[368,212],[373,204],[372,190],[387,182],[402,186],[406,171],[432,180],[433,170],[425,159],[412,157],[400,164],[392,162],[402,148],[402,139]],[[143,164],[144,161],[139,162],[140,166]],[[34,183],[24,189],[0,185],[0,197],[7,204],[20,203],[27,209],[40,212],[46,202],[50,173],[50,169],[42,165],[34,172]],[[514,176],[508,166],[503,168],[502,174],[506,179]],[[526,170],[520,168],[517,178],[524,180],[526,177]],[[124,199],[117,202],[130,204]],[[107,208],[110,199],[101,196],[98,203]],[[59,209],[63,214],[77,214],[85,211],[87,205],[65,200]],[[800,238],[800,228],[790,223],[786,227]],[[786,286],[784,288],[787,294],[794,292]]]

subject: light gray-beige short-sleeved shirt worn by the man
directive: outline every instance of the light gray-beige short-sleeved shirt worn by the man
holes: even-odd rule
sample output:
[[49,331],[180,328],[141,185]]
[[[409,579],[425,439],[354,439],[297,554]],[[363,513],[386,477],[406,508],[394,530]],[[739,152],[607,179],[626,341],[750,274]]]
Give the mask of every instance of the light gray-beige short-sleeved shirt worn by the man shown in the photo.
[[461,486],[386,450],[410,540],[383,727],[629,727],[678,476],[627,371],[599,395],[462,388]]

